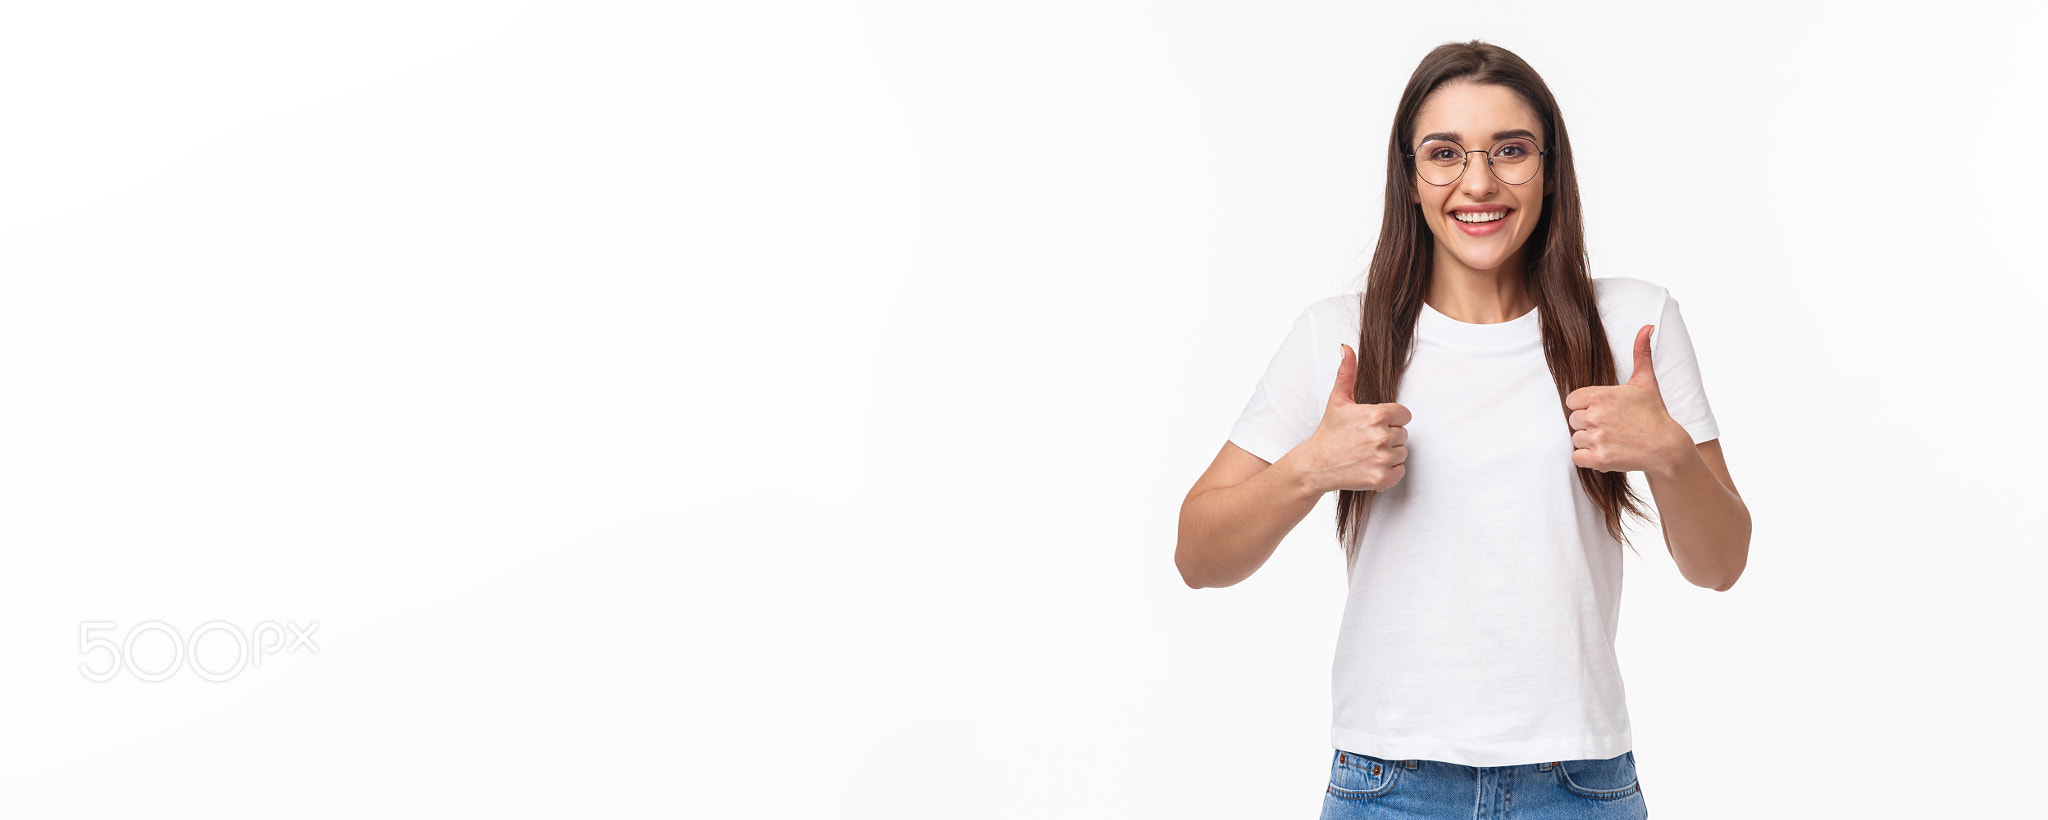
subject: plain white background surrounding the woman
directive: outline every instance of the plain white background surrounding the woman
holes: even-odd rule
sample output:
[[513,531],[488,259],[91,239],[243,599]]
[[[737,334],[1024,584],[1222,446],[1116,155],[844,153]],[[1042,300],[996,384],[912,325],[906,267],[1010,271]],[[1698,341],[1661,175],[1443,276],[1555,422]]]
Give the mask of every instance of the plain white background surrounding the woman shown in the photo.
[[2040,6],[1679,8],[10,8],[0,814],[1313,816],[1335,496],[1231,588],[1178,510],[1473,37],[1755,519],[1636,527],[1649,806],[2028,810]]

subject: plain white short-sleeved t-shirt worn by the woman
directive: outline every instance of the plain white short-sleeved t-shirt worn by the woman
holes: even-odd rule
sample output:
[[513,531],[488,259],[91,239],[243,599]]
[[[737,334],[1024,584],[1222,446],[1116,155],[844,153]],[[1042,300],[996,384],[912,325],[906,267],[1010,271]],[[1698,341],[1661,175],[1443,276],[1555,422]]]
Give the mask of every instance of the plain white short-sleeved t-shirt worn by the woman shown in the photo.
[[[1655,283],[1593,279],[1618,381],[1655,324],[1665,408],[1694,443],[1720,430],[1677,301]],[[1231,441],[1278,461],[1323,420],[1337,361],[1358,348],[1360,295],[1294,318]],[[1540,310],[1466,324],[1423,303],[1395,402],[1407,474],[1372,498],[1331,668],[1331,744],[1468,767],[1610,758],[1632,748],[1614,633],[1620,541],[1579,488]],[[1313,521],[1311,521],[1313,523]],[[1325,521],[1335,541],[1335,521]],[[1638,541],[1640,549],[1640,541]]]

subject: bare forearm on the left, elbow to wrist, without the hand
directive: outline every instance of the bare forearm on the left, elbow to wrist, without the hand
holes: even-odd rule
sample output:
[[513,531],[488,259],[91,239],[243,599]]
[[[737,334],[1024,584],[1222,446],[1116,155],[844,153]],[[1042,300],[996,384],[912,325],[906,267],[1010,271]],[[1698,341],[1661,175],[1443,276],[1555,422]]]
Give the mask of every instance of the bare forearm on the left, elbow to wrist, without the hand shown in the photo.
[[1266,566],[1321,498],[1288,455],[1241,484],[1188,496],[1174,566],[1194,588],[1237,584]]

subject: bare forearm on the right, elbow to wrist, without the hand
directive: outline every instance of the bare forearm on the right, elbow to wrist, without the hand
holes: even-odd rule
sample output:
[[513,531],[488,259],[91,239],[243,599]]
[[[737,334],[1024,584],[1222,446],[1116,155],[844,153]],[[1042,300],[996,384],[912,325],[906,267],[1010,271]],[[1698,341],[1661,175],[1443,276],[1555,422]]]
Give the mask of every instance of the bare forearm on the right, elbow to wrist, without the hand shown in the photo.
[[1726,590],[1749,564],[1749,504],[1720,482],[1692,439],[1647,469],[1665,545],[1694,586]]

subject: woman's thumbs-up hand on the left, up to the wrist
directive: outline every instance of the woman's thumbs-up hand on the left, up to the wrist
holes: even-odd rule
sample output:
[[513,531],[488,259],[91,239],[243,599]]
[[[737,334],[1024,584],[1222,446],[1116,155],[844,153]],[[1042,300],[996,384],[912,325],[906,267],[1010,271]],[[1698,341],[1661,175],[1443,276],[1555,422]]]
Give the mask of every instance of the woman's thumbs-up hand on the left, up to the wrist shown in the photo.
[[1323,406],[1323,424],[1292,453],[1309,486],[1331,490],[1386,490],[1407,476],[1407,424],[1413,414],[1399,404],[1358,404],[1358,353],[1343,344],[1337,383]]

